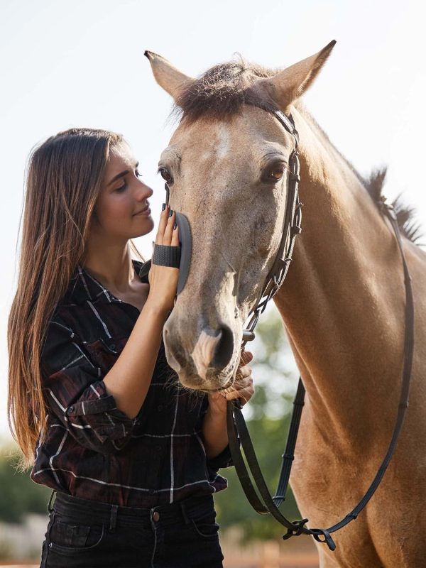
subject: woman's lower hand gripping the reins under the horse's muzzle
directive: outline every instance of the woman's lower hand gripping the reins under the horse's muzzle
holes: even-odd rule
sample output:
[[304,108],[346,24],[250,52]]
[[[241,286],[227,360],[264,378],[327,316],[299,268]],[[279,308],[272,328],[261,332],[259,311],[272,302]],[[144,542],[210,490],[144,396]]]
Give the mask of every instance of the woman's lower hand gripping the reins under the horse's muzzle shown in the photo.
[[210,413],[225,414],[227,400],[239,398],[242,405],[249,402],[254,393],[251,368],[248,365],[251,359],[253,359],[251,351],[242,351],[234,384],[223,391],[209,393]]

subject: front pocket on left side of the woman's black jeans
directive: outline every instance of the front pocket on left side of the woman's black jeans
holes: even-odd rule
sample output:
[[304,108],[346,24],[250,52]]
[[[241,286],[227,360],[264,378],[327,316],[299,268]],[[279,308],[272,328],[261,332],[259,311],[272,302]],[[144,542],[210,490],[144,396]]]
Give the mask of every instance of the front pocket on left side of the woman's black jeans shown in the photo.
[[102,523],[83,525],[55,518],[50,528],[48,546],[50,550],[66,554],[93,550],[102,542],[104,532]]

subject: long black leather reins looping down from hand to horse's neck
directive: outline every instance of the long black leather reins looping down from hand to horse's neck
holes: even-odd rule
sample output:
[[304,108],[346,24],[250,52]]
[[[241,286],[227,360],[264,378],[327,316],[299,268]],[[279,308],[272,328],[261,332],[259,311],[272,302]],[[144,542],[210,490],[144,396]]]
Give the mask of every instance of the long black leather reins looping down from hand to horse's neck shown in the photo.
[[[374,477],[371,485],[366,491],[361,501],[348,513],[339,523],[332,525],[331,527],[324,528],[307,528],[305,525],[308,522],[307,519],[296,520],[291,522],[278,510],[278,506],[283,503],[285,499],[285,491],[288,486],[288,479],[290,477],[291,464],[293,463],[293,454],[295,449],[295,441],[297,437],[297,430],[300,423],[300,415],[302,412],[302,405],[304,403],[305,388],[302,385],[300,379],[299,386],[297,388],[297,396],[295,399],[295,409],[293,410],[292,421],[290,425],[290,432],[288,437],[288,442],[285,449],[285,454],[283,455],[283,466],[280,473],[280,481],[278,482],[277,494],[275,497],[271,497],[266,486],[265,479],[261,474],[261,469],[256,459],[256,454],[253,449],[253,444],[251,442],[249,431],[247,430],[246,423],[244,421],[244,416],[241,413],[241,404],[239,401],[228,401],[227,403],[227,428],[228,428],[228,438],[229,438],[229,448],[231,450],[232,459],[234,461],[236,472],[239,476],[241,486],[246,493],[246,497],[253,506],[253,508],[261,514],[271,513],[273,517],[278,520],[285,528],[288,529],[287,533],[283,535],[283,539],[288,539],[292,536],[297,536],[301,534],[312,535],[317,542],[325,542],[330,550],[335,550],[336,545],[332,539],[331,533],[343,528],[349,524],[352,520],[356,519],[361,510],[364,509],[368,501],[370,501],[373,493],[376,491],[378,485],[385,474],[389,462],[395,452],[396,443],[398,441],[398,436],[400,430],[403,426],[403,420],[405,417],[405,411],[408,408],[408,394],[410,388],[410,378],[411,370],[413,366],[413,351],[414,351],[414,302],[413,302],[413,289],[411,286],[410,273],[408,271],[408,265],[405,260],[405,254],[403,251],[403,244],[400,238],[400,231],[398,227],[398,222],[396,219],[393,206],[391,204],[386,204],[382,199],[381,210],[383,214],[388,217],[391,222],[391,226],[395,233],[395,237],[398,243],[398,248],[400,250],[400,255],[403,261],[403,271],[404,271],[404,283],[405,283],[405,341],[404,341],[404,366],[403,366],[403,381],[401,385],[400,392],[400,402],[398,405],[398,416],[395,422],[395,427],[393,430],[393,435],[391,437],[391,442],[386,452],[381,466],[379,467],[376,476]],[[297,401],[297,403],[296,403]],[[239,435],[239,438],[238,438]],[[244,454],[246,455],[247,465],[251,471],[251,476],[253,477],[253,482],[260,493],[261,499],[258,497],[251,478],[249,476],[249,471],[247,469],[244,458],[241,454],[241,449],[244,449]]]

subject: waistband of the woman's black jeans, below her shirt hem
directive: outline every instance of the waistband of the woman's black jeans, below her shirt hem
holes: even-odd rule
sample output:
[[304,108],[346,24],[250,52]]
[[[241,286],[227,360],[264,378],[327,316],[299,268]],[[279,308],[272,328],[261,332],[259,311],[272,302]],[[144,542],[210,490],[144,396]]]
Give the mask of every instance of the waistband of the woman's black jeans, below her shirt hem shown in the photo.
[[177,520],[183,520],[187,524],[195,515],[214,510],[214,501],[212,495],[204,495],[153,508],[138,508],[91,501],[58,491],[52,509],[62,515],[79,515],[82,520],[90,518],[100,523],[109,523],[110,526],[115,526],[116,523],[146,525],[153,519],[161,524],[175,523]]

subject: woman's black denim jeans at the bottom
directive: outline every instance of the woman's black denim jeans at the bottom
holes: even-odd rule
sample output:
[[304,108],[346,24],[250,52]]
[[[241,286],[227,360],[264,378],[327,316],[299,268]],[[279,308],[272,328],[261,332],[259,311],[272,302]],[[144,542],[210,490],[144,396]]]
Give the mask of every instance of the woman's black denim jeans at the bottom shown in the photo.
[[58,493],[40,568],[222,568],[212,496],[151,509]]

